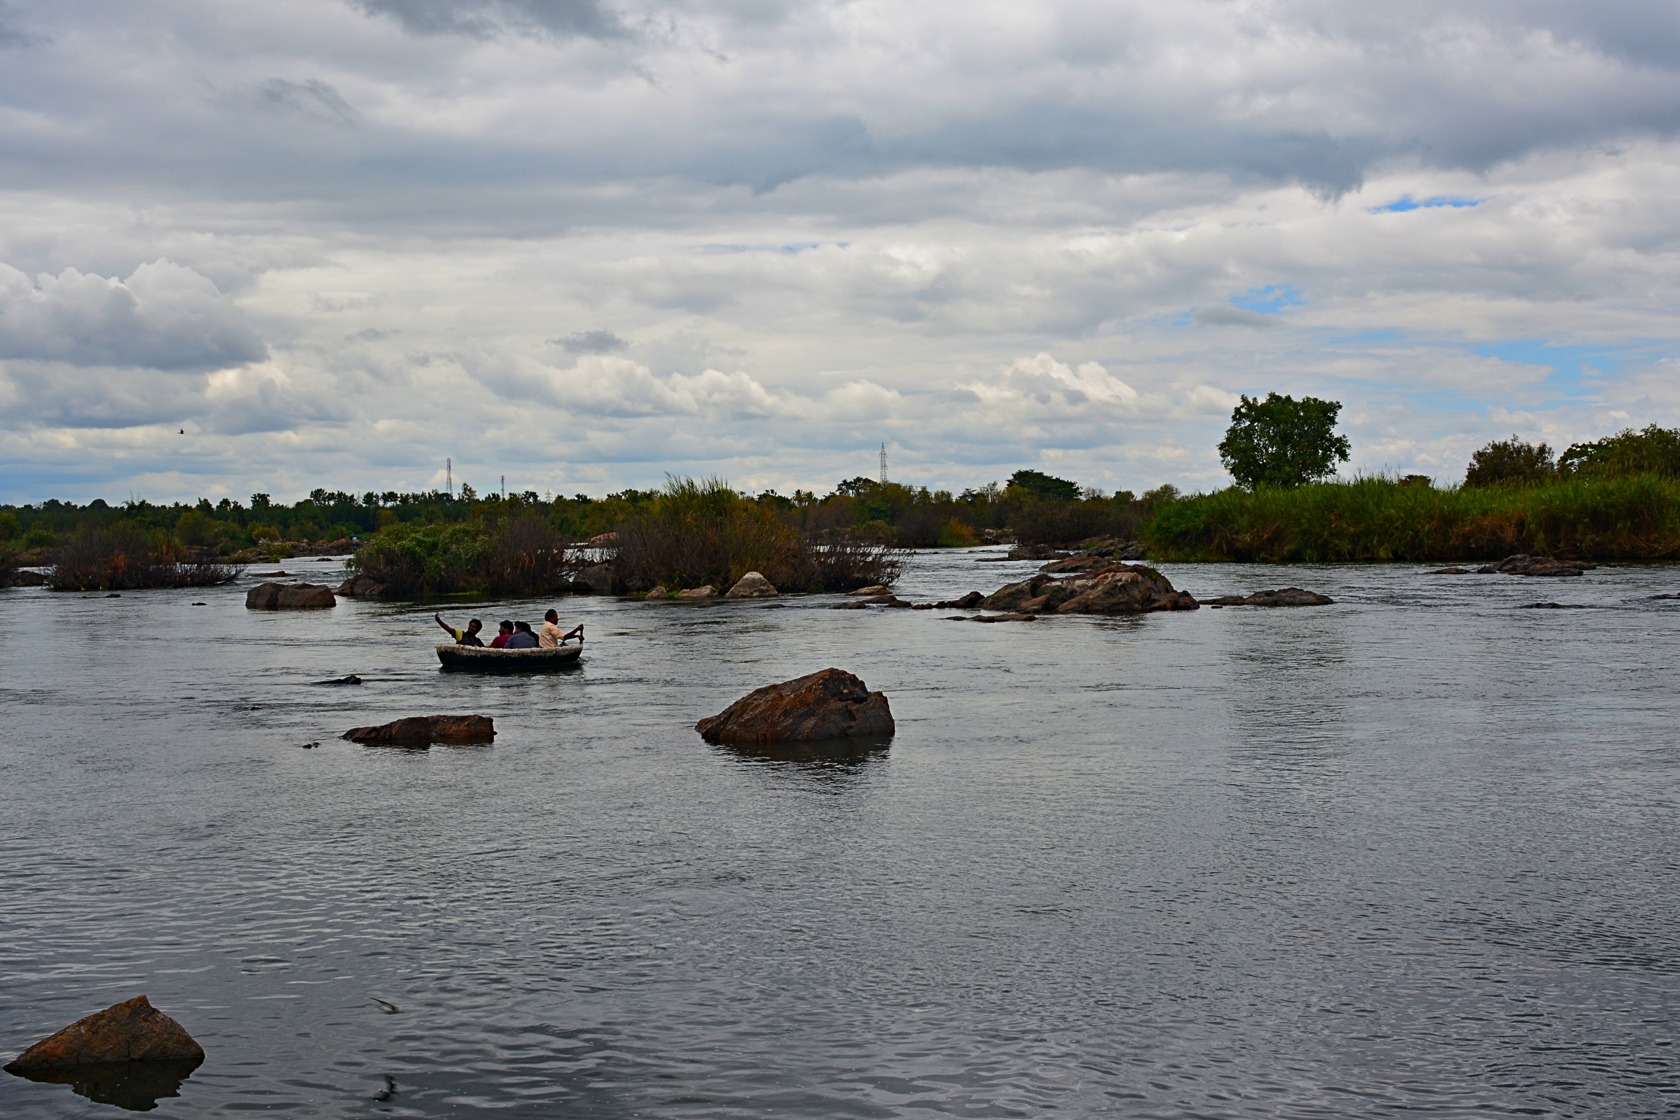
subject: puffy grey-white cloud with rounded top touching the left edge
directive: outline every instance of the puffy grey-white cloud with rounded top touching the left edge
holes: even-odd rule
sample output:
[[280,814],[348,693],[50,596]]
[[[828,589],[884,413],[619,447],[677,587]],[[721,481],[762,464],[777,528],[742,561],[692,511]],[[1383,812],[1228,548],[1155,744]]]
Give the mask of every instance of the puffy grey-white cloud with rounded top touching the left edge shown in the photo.
[[170,260],[126,280],[76,269],[30,279],[0,264],[0,358],[205,371],[265,356],[215,284]]

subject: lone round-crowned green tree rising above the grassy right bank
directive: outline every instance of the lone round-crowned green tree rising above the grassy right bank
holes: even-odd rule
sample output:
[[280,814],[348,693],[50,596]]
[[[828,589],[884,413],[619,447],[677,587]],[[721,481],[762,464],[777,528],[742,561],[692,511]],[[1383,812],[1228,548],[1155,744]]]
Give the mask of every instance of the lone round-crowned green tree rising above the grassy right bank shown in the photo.
[[1220,443],[1220,462],[1238,485],[1297,487],[1336,474],[1337,462],[1347,462],[1351,448],[1346,435],[1336,435],[1341,401],[1317,396],[1242,398],[1231,410],[1231,427]]

